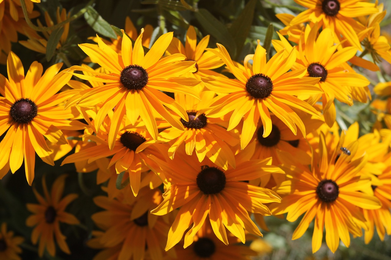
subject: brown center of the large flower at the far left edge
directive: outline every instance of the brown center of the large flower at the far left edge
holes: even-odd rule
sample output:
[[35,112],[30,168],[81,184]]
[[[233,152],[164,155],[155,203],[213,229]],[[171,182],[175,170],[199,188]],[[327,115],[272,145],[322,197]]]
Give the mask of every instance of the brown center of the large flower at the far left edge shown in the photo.
[[19,124],[27,124],[38,114],[37,105],[29,98],[16,100],[9,110],[11,118]]

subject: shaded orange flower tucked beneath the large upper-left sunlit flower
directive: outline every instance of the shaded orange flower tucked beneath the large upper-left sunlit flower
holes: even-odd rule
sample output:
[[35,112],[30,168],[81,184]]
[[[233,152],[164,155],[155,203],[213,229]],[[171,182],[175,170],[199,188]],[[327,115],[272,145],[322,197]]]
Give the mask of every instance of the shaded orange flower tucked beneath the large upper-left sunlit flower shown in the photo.
[[[163,159],[161,156],[162,152],[159,150],[160,146],[151,146],[154,144],[154,140],[145,128],[126,127],[124,125],[125,120],[122,118],[120,119],[121,124],[119,128],[115,130],[114,147],[110,150],[108,140],[111,131],[110,125],[114,117],[115,112],[109,112],[109,116],[100,125],[99,131],[83,136],[86,140],[95,142],[96,145],[90,145],[77,153],[69,155],[63,160],[61,165],[85,160],[88,160],[90,163],[100,158],[112,156],[108,167],[115,165],[117,174],[129,171],[130,185],[134,195],[137,196],[140,189],[142,171],[148,170],[148,167],[157,168],[149,156],[155,155]],[[94,127],[93,122],[91,127]]]

